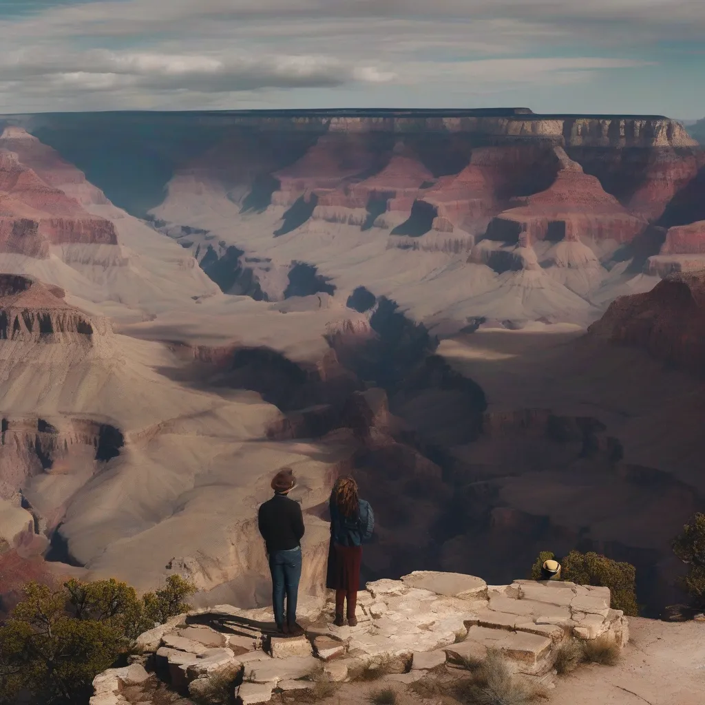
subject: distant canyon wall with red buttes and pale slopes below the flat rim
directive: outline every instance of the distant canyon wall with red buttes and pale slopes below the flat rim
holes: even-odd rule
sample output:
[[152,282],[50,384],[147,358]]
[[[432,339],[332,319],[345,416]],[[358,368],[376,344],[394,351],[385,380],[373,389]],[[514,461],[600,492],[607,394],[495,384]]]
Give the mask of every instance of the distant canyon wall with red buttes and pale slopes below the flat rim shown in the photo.
[[[15,121],[71,154],[82,135],[66,119]],[[121,156],[139,171],[154,119],[105,115],[82,133],[129,134]],[[658,259],[665,231],[692,222],[705,165],[668,118],[235,111],[161,128],[174,166],[149,219],[226,293],[272,302],[364,286],[448,333],[483,317],[587,325],[615,296],[692,269],[687,252]],[[179,157],[187,129],[204,148]],[[142,204],[142,185],[129,189],[116,194]]]

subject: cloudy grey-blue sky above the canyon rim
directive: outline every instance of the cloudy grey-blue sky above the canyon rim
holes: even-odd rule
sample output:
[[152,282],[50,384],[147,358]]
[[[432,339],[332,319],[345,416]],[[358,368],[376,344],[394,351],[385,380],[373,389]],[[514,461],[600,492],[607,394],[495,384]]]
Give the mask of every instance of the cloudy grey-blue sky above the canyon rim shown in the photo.
[[705,0],[0,0],[0,113],[705,116]]

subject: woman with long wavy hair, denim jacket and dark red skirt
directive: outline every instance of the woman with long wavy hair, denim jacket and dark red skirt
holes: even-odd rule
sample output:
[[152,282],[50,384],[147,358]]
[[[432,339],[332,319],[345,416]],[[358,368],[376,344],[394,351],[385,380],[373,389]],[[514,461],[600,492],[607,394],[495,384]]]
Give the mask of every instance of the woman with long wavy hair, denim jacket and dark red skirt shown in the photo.
[[357,626],[355,607],[360,587],[362,544],[372,538],[374,513],[369,503],[357,496],[357,482],[341,477],[331,492],[331,550],[329,552],[327,587],[336,591],[336,627]]

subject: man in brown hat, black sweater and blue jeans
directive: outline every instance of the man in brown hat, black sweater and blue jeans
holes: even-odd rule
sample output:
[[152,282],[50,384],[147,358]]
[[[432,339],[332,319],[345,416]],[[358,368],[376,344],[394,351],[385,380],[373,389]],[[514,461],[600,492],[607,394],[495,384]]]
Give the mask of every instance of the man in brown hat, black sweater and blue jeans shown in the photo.
[[284,467],[274,475],[271,481],[274,497],[259,508],[257,520],[269,558],[276,627],[283,634],[301,635],[303,632],[296,624],[296,602],[301,579],[304,520],[299,503],[287,496],[295,486],[296,479],[290,467]]

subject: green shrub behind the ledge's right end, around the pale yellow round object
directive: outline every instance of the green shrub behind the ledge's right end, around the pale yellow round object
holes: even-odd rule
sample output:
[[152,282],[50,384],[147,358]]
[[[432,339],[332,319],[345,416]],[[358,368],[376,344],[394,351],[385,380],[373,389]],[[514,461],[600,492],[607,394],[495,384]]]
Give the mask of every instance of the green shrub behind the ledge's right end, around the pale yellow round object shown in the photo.
[[568,556],[559,560],[550,551],[539,553],[532,566],[531,577],[541,578],[541,565],[553,558],[561,565],[560,578],[578,585],[608,587],[611,594],[611,607],[622,610],[625,615],[635,617],[639,614],[635,581],[637,569],[631,563],[620,563],[599,553],[580,553],[570,551]]

